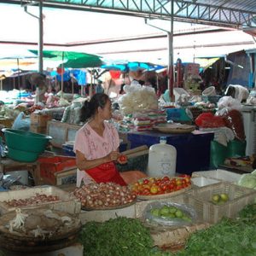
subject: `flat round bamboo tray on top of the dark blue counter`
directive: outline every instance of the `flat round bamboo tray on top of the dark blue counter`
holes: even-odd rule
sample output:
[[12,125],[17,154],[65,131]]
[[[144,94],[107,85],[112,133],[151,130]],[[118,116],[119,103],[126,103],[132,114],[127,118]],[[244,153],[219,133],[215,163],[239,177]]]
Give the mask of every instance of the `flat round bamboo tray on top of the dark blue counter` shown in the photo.
[[195,131],[195,125],[160,124],[153,126],[153,130],[165,133],[189,133]]

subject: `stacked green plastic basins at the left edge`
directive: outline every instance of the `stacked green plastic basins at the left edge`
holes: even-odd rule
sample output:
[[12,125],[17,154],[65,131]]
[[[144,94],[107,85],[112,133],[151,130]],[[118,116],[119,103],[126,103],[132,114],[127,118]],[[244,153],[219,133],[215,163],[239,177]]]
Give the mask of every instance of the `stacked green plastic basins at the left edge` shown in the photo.
[[9,158],[20,162],[37,160],[52,138],[44,134],[8,128],[3,129],[3,132]]

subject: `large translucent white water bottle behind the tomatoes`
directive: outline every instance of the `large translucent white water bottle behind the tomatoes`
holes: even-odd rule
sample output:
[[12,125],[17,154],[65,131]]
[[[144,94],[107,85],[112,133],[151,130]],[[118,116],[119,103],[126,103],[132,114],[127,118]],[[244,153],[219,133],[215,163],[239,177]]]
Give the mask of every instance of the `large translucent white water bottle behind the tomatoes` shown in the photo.
[[148,152],[149,177],[175,176],[177,150],[166,144],[166,137],[160,137],[160,143],[154,144]]

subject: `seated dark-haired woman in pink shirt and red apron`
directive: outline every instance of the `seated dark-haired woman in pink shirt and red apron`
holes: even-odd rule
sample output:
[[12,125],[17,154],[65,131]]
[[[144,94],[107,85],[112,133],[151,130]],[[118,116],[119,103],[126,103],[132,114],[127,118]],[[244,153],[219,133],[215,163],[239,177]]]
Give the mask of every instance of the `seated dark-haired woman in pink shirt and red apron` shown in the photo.
[[84,183],[92,180],[96,183],[126,185],[146,177],[139,171],[119,173],[115,165],[120,156],[119,134],[114,125],[108,122],[112,116],[111,110],[111,101],[104,93],[96,93],[90,102],[84,102],[81,121],[85,124],[77,131],[73,148],[79,168],[79,183],[84,179]]

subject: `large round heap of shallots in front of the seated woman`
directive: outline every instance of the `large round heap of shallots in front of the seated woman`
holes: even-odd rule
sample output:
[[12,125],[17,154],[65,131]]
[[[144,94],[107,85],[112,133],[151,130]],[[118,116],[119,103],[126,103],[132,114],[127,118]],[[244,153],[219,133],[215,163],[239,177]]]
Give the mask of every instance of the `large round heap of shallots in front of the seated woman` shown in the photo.
[[73,194],[79,198],[82,207],[114,207],[136,200],[136,194],[126,186],[116,183],[90,183],[75,189]]

